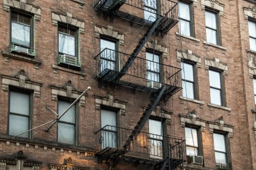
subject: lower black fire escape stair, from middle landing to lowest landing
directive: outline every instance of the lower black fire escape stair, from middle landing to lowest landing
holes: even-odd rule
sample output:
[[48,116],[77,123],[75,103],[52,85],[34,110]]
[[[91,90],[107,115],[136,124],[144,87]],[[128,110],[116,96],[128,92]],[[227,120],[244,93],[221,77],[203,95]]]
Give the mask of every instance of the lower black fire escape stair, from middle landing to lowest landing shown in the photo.
[[130,142],[133,141],[134,136],[136,136],[138,132],[141,132],[142,128],[144,127],[145,123],[150,117],[153,109],[156,107],[161,97],[163,96],[165,90],[166,85],[163,85],[163,87],[159,88],[159,90],[156,92],[155,97],[153,97],[150,104],[148,104],[147,108],[145,108],[145,111],[143,112],[141,118],[137,122],[137,125],[134,127],[134,130],[131,132],[131,135],[128,137],[128,140],[126,140],[126,143],[123,146],[124,149],[127,149],[127,147],[130,146]]

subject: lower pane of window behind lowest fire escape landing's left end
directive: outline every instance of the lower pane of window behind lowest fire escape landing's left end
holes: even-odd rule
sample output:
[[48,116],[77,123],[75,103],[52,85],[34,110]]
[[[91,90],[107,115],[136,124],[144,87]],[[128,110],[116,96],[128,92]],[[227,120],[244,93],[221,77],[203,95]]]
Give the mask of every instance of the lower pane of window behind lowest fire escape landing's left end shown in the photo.
[[101,131],[101,148],[117,147],[117,133],[109,131]]

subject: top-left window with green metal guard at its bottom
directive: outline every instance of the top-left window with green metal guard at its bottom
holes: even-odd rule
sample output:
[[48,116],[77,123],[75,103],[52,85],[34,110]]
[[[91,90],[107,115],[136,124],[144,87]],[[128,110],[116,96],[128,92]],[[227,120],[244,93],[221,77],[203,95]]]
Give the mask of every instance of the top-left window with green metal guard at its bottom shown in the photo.
[[35,55],[32,16],[12,10],[11,21],[10,50]]

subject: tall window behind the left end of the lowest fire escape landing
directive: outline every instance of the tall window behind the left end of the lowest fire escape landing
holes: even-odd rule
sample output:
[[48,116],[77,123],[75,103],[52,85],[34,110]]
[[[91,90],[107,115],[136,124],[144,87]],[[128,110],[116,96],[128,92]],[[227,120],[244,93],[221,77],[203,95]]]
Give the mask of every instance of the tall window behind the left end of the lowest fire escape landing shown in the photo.
[[[106,127],[105,127],[106,126]],[[117,147],[117,113],[101,109],[101,148]]]

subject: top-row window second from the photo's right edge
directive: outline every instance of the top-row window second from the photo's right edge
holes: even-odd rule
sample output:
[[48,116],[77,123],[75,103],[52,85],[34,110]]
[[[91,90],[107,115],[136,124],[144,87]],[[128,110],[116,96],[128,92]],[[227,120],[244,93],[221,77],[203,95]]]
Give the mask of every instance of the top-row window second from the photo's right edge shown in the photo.
[[217,19],[218,19],[217,13],[205,10],[205,26],[206,26],[208,43],[220,44]]

